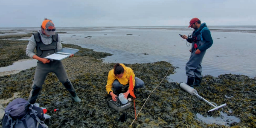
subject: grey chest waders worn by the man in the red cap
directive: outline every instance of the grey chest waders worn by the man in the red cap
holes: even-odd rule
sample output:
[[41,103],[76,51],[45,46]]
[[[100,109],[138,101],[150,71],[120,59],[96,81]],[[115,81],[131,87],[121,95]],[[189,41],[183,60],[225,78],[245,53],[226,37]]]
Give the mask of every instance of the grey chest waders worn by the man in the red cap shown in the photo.
[[200,54],[195,54],[195,51],[198,49],[198,47],[206,43],[206,41],[203,40],[203,37],[202,37],[202,31],[204,30],[209,30],[209,29],[207,27],[203,28],[200,34],[196,36],[195,41],[192,41],[192,46],[191,46],[192,51],[190,54],[189,61],[186,63],[186,75],[188,76],[186,84],[188,84],[191,87],[193,87],[193,85],[199,86],[203,78],[201,74],[202,73],[201,63],[203,61],[206,50],[201,51]]

